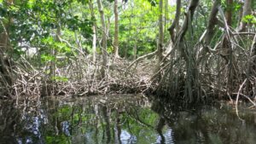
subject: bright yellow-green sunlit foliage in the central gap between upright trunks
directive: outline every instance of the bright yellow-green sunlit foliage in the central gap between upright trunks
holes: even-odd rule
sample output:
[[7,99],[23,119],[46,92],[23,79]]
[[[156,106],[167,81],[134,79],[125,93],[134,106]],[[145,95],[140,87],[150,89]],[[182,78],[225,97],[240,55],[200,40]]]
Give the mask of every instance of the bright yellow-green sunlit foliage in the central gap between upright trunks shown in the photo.
[[[119,14],[119,54],[128,57],[133,54],[133,48],[137,47],[137,55],[144,55],[156,49],[156,38],[158,34],[159,8],[157,1],[135,0],[134,6],[127,6],[127,9]],[[175,11],[171,6],[166,15],[170,20]],[[120,9],[121,10],[121,9]],[[110,28],[113,33],[113,25]],[[113,35],[113,34],[111,34]],[[168,33],[166,32],[166,37]]]

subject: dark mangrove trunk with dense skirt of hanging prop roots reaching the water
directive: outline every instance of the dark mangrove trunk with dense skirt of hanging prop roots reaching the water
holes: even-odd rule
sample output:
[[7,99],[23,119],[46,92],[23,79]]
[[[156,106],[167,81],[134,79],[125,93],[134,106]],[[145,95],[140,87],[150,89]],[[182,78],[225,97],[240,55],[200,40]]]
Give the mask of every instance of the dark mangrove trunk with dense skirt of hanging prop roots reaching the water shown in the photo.
[[[195,9],[198,6],[199,0],[191,0],[189,3],[189,7],[186,10],[185,17],[183,20],[183,25],[181,29],[177,32],[176,38],[172,36],[172,32],[175,26],[171,26],[169,28],[169,32],[171,32],[172,39],[174,39],[174,45],[173,49],[177,49],[177,59],[175,61],[168,61],[170,63],[172,62],[185,62],[185,66],[177,66],[179,70],[177,72],[172,72],[172,66],[168,67],[163,78],[161,78],[159,87],[157,88],[157,93],[160,95],[172,95],[175,100],[181,98],[183,99],[183,102],[192,103],[196,101],[201,100],[201,84],[200,84],[200,78],[199,78],[199,70],[198,70],[198,64],[196,63],[195,58],[195,47],[192,46],[193,43],[187,43],[185,40],[185,35],[189,31],[191,32],[192,29],[192,22],[193,17],[195,14]],[[177,6],[177,15],[178,16],[178,9]],[[170,31],[171,30],[171,31]],[[190,37],[193,37],[193,33],[191,32]],[[191,40],[191,39],[190,39]],[[173,50],[173,53],[175,51]],[[175,64],[174,64],[175,65]],[[174,70],[175,71],[175,70]],[[180,71],[180,72],[179,72]],[[172,82],[176,81],[176,82]],[[177,93],[173,92],[177,91]],[[179,101],[179,100],[178,100]]]

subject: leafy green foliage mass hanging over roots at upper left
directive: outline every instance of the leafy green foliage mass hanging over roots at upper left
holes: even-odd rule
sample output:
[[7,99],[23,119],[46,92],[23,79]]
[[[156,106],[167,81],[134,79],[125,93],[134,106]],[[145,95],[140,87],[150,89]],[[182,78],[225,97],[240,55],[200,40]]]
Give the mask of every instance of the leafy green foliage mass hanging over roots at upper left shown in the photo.
[[[82,1],[80,1],[82,2]],[[59,27],[65,32],[78,32],[84,38],[91,37],[92,20],[82,15],[83,11],[75,14],[73,5],[79,5],[79,1],[74,0],[28,0],[15,1],[8,6],[0,4],[0,20],[7,24],[11,17],[14,21],[9,26],[9,38],[15,46],[17,55],[24,55],[20,50],[23,44],[31,47],[38,47],[41,55],[38,55],[43,62],[55,60],[54,55],[50,54],[50,49],[56,49],[59,55],[67,57],[73,55],[73,50],[66,43],[59,43],[55,40],[55,31]],[[88,1],[83,1],[86,4]],[[80,7],[84,9],[84,7]],[[79,9],[77,9],[79,10]],[[2,30],[1,30],[2,31]],[[62,31],[63,35],[65,32]],[[75,41],[68,37],[67,41]],[[71,43],[73,45],[73,43]]]

